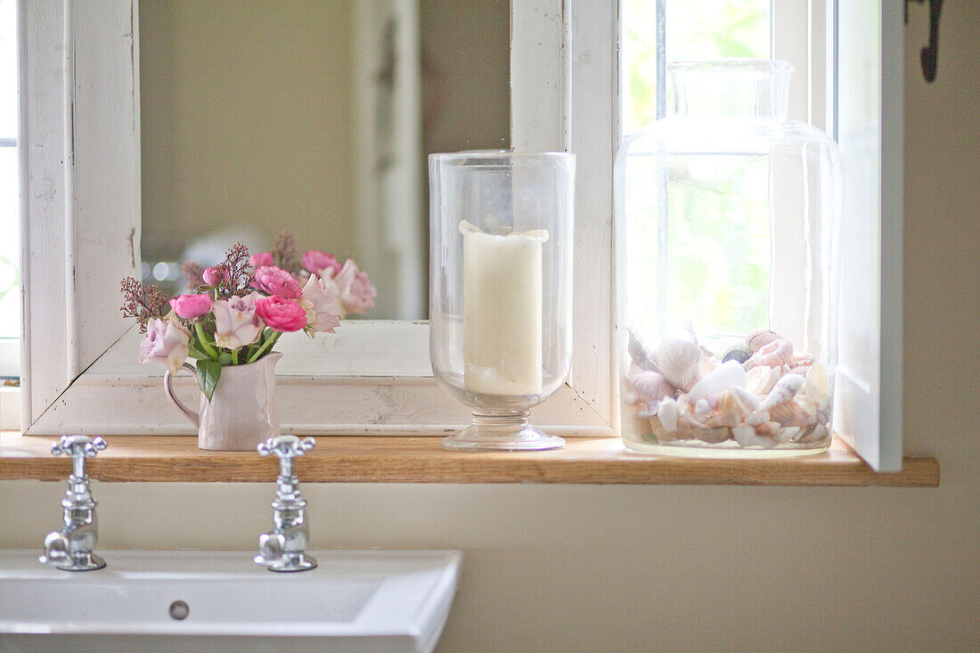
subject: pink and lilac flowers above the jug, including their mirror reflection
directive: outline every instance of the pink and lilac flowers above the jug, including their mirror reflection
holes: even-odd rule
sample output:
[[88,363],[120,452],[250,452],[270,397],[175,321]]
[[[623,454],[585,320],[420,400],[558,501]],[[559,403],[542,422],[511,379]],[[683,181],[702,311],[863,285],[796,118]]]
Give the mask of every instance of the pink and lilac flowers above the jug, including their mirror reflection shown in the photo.
[[123,279],[123,317],[145,333],[140,363],[165,363],[175,374],[194,359],[209,401],[223,366],[258,361],[285,332],[332,333],[347,314],[366,313],[377,294],[354,261],[340,265],[316,250],[300,257],[289,234],[280,234],[271,252],[249,257],[236,243],[220,264],[187,264],[184,273],[192,292],[171,298],[154,285]]

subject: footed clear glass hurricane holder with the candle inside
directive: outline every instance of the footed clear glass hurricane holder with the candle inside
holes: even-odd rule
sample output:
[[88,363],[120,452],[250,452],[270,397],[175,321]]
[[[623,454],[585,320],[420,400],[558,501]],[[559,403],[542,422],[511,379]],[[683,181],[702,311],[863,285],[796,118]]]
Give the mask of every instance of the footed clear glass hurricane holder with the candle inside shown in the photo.
[[571,358],[575,159],[564,153],[429,156],[429,355],[472,423],[447,449],[557,449],[530,409]]

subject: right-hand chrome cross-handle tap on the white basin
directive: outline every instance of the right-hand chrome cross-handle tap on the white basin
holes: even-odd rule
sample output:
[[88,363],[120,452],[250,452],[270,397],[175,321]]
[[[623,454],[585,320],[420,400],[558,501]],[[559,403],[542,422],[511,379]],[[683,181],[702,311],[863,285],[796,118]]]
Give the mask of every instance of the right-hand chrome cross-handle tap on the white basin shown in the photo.
[[301,440],[295,435],[279,435],[259,445],[261,455],[279,457],[278,486],[272,501],[274,527],[259,536],[259,555],[255,557],[270,572],[303,572],[317,566],[317,561],[306,554],[310,543],[306,500],[300,493],[299,478],[293,473],[293,459],[313,449],[316,443],[312,437]]

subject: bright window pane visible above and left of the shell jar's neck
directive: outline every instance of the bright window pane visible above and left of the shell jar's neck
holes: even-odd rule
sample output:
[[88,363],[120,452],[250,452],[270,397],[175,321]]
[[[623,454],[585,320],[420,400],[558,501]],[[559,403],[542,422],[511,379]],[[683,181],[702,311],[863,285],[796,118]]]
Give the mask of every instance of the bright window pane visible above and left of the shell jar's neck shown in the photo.
[[[662,25],[658,20],[662,15]],[[629,134],[663,117],[658,71],[672,61],[771,57],[770,0],[624,0],[622,130]],[[658,29],[662,36],[658,38]]]

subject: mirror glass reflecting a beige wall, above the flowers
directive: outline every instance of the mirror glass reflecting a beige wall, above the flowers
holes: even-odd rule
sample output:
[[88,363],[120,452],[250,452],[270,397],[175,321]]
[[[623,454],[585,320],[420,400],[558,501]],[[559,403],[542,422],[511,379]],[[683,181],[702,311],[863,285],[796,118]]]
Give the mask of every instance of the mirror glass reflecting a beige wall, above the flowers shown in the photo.
[[425,158],[510,146],[509,0],[142,0],[139,49],[146,281],[287,229],[427,317]]

